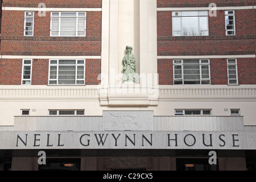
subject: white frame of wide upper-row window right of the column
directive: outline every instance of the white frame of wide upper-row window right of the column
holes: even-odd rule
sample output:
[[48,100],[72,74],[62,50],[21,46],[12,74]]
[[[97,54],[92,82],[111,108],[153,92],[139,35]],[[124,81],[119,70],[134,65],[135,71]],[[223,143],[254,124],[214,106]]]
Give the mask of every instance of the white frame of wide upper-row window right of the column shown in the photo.
[[[186,11],[172,11],[172,36],[209,36],[209,19],[208,19],[208,11],[187,11],[187,12],[192,12],[192,13],[197,13],[197,15],[182,15],[183,12]],[[206,13],[207,15],[202,15],[200,13]],[[183,17],[197,17],[198,18],[198,30],[199,30],[199,34],[198,35],[192,35],[192,34],[188,34],[186,31],[183,30],[183,22],[182,22],[182,18]],[[200,30],[200,17],[206,17],[207,18],[207,29],[205,30]],[[174,18],[179,18],[180,19],[180,31],[174,30]],[[175,32],[180,32],[179,35],[175,34]],[[200,32],[204,32],[204,34],[200,35]]]

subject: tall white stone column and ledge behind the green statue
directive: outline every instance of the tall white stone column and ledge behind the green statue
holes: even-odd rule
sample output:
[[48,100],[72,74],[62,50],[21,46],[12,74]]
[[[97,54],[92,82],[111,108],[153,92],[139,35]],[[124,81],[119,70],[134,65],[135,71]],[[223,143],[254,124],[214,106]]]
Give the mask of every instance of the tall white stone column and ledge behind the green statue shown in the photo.
[[[143,75],[136,84],[122,82],[126,46],[133,47],[136,73]],[[156,0],[102,1],[102,106],[157,105],[158,94],[150,96],[152,90],[158,93],[156,48]]]

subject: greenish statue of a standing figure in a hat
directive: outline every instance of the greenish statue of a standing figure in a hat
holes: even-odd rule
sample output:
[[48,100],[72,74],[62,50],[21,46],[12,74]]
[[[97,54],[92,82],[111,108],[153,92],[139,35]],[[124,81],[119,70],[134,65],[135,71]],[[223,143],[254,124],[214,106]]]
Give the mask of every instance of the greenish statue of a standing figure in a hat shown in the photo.
[[123,82],[135,82],[135,57],[133,47],[126,46],[126,55],[123,57]]

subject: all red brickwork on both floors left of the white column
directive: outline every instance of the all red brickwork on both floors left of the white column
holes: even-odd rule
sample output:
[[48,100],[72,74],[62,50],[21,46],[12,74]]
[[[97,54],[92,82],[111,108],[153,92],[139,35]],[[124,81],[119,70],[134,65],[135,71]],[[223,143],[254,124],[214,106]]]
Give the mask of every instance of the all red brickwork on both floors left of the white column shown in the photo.
[[[101,0],[55,0],[20,1],[5,0],[6,7],[101,7]],[[2,11],[1,55],[31,56],[100,56],[101,55],[101,11],[86,12],[85,37],[51,37],[51,12],[39,16],[34,11],[34,36],[23,36],[24,11]],[[48,84],[48,59],[33,59],[32,85]],[[88,59],[85,65],[85,85],[99,84],[101,60]],[[0,61],[0,84],[20,85],[22,79],[22,59],[2,59]]]

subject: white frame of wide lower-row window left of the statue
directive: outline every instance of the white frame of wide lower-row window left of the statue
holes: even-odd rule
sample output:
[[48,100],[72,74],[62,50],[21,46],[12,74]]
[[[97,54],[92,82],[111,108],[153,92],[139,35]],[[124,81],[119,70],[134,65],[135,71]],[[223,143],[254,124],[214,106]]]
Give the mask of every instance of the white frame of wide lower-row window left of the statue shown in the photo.
[[[56,62],[56,64],[51,64],[51,61],[57,61]],[[48,74],[48,85],[85,85],[85,59],[65,59],[65,60],[76,60],[76,64],[59,64],[59,61],[60,60],[63,60],[63,59],[50,59],[49,60],[49,74]],[[84,61],[84,64],[78,64],[77,62],[79,61],[79,60],[82,60],[82,61]],[[58,84],[58,82],[59,82],[59,66],[60,65],[75,65],[76,66],[76,75],[75,75],[75,84]],[[56,75],[56,78],[51,78],[51,66],[53,66],[53,67],[57,67],[57,70],[56,70],[56,72],[57,72],[57,75]],[[81,66],[83,66],[84,67],[84,78],[77,78],[77,67],[81,67]],[[77,84],[77,81],[81,81],[81,80],[83,80],[84,81],[84,84]],[[51,84],[50,83],[50,81],[56,81],[56,84]]]

